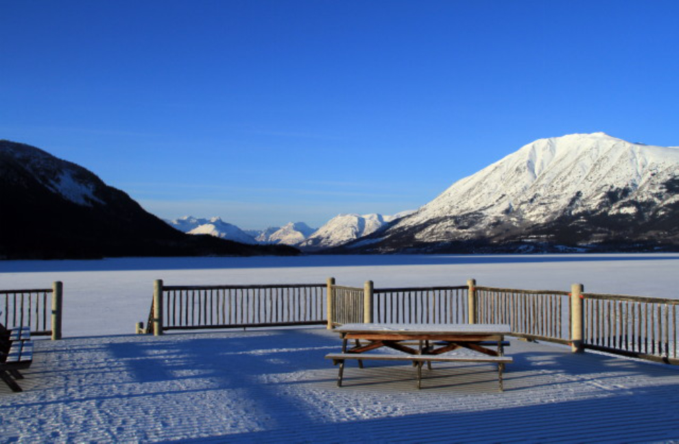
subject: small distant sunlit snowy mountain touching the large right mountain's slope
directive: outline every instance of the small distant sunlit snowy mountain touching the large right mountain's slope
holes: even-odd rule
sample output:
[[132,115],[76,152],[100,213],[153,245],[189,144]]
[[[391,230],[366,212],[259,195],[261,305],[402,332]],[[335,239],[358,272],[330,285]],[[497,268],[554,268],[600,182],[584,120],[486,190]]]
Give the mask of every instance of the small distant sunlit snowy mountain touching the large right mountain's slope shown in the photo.
[[326,222],[318,231],[299,244],[306,250],[330,248],[374,233],[392,218],[380,214],[340,214]]

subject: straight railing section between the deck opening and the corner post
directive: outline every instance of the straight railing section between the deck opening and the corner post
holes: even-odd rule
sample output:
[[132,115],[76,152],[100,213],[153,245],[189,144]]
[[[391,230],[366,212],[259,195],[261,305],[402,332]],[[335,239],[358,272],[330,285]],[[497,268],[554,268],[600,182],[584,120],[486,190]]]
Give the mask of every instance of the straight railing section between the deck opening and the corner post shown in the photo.
[[154,284],[145,331],[324,325],[325,284]]

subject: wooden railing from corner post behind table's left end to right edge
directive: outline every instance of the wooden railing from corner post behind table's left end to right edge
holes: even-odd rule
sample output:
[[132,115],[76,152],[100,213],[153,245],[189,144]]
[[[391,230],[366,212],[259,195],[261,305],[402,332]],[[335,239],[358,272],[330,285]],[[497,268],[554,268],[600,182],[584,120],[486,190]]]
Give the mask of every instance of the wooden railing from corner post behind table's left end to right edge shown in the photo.
[[[334,282],[333,282],[334,283]],[[328,328],[344,323],[501,323],[512,336],[679,364],[679,300],[476,285],[329,286]]]

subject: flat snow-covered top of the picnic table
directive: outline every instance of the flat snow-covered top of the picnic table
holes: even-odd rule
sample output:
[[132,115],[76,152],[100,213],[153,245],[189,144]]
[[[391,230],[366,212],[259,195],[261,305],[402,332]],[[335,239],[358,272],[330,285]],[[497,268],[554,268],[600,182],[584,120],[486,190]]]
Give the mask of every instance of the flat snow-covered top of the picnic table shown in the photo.
[[508,335],[507,324],[403,324],[403,323],[352,323],[337,327],[339,333],[384,334],[460,334],[460,335]]

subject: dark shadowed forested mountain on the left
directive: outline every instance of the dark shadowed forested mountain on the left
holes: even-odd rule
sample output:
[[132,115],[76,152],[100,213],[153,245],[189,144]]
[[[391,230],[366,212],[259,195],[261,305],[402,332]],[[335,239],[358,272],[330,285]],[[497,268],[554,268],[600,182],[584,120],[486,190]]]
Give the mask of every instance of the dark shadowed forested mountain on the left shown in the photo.
[[0,259],[297,253],[181,233],[83,167],[0,141]]

